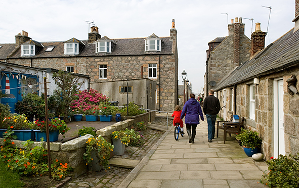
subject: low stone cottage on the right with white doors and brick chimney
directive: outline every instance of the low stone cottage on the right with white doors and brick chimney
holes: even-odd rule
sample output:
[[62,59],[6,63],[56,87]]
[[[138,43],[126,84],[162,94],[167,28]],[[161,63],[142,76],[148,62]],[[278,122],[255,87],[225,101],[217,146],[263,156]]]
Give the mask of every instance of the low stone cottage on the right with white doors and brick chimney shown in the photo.
[[295,6],[294,28],[264,48],[267,33],[257,23],[250,60],[213,87],[225,119],[237,114],[260,132],[266,159],[299,152],[299,0]]

